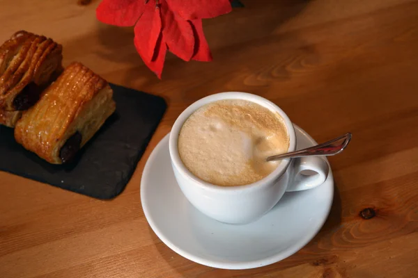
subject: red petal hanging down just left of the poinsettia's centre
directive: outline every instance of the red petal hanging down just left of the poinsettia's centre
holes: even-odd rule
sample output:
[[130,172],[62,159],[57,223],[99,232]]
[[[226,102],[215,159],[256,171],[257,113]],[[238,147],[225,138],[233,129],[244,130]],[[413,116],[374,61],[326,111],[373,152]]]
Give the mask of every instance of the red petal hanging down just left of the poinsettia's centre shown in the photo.
[[[142,1],[142,0],[137,0]],[[146,5],[144,14],[139,18],[134,28],[134,44],[144,62],[149,63],[153,59],[155,46],[161,33],[160,9],[155,3]]]

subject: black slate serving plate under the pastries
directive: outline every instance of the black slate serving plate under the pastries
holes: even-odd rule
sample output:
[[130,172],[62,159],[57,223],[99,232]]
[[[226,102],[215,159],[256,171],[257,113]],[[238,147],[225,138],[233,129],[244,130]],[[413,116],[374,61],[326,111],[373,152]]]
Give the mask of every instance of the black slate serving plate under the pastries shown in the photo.
[[17,144],[13,129],[0,126],[0,170],[98,199],[119,195],[132,177],[167,104],[161,97],[110,85],[116,112],[75,161],[68,165],[49,164]]

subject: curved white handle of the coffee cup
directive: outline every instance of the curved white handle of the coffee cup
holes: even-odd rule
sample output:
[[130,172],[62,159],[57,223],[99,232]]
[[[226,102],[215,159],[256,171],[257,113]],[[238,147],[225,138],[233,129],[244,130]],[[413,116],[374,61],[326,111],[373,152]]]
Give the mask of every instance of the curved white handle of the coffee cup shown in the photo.
[[[328,163],[318,156],[294,158],[291,167],[293,167],[293,179],[288,183],[286,191],[307,190],[320,186],[327,179],[330,170]],[[304,170],[311,170],[316,174],[302,174]]]

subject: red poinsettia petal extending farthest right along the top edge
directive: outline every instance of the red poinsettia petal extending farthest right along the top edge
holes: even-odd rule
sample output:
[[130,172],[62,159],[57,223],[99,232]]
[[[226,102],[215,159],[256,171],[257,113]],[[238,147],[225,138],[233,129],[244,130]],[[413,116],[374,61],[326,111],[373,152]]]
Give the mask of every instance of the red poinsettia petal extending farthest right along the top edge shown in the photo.
[[167,0],[171,9],[187,20],[217,17],[230,13],[229,0]]

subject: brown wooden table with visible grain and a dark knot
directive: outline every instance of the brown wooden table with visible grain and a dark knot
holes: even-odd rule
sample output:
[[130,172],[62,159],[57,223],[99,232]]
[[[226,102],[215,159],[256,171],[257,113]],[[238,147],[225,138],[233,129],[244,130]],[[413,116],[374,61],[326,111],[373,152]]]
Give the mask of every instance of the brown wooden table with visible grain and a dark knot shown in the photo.
[[[89,3],[91,2],[91,3]],[[243,1],[204,22],[215,60],[167,56],[162,81],[132,28],[100,24],[99,1],[0,1],[0,41],[24,29],[61,42],[113,83],[169,108],[125,191],[108,202],[0,172],[0,277],[418,277],[418,1]],[[239,90],[271,99],[318,141],[346,131],[330,158],[332,211],[300,252],[254,270],[184,259],[141,208],[141,173],[196,99]],[[1,154],[0,154],[1,155]]]

